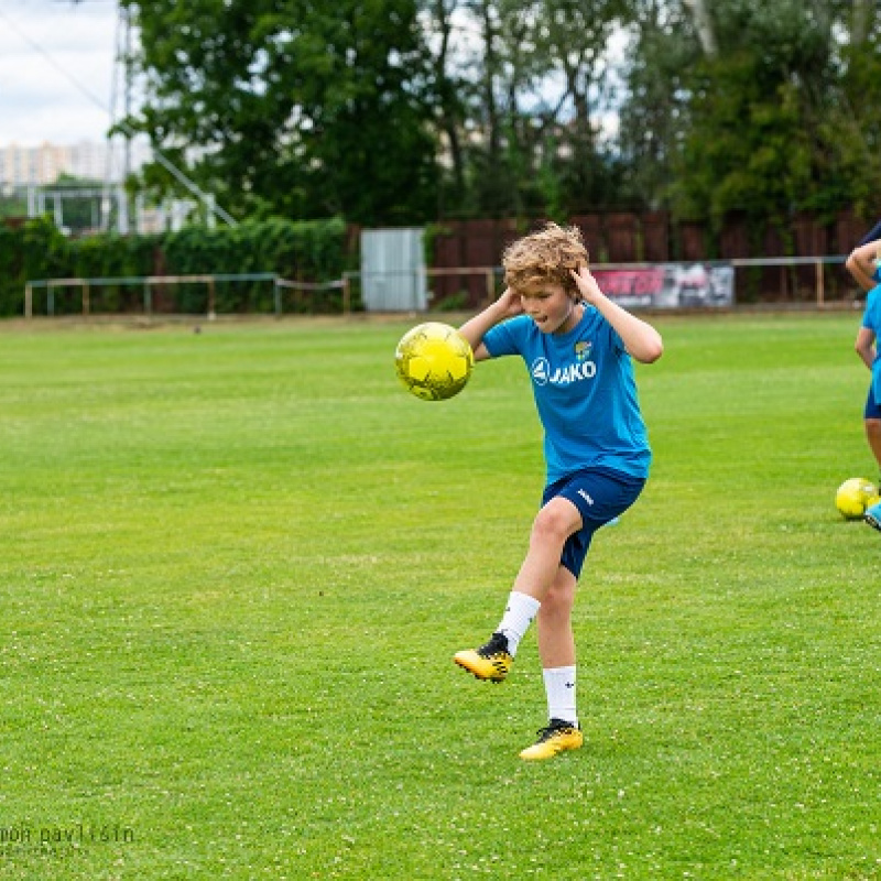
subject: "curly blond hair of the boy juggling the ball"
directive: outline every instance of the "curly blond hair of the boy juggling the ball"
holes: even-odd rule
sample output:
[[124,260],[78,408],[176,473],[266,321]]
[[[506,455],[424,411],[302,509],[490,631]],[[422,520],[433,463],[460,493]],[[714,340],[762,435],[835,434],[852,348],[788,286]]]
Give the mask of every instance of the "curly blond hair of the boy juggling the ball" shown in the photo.
[[509,244],[502,254],[504,283],[526,296],[547,284],[559,284],[577,300],[578,287],[570,270],[586,265],[587,248],[578,227],[553,222]]

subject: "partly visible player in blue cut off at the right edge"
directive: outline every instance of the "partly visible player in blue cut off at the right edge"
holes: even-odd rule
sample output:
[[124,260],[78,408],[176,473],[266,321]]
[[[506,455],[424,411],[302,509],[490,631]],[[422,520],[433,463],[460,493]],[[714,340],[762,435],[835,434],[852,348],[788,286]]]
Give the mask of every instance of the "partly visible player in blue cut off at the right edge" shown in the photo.
[[[855,248],[847,259],[847,269],[863,291],[868,292],[862,322],[857,331],[853,349],[872,373],[869,395],[863,410],[866,439],[869,449],[881,470],[881,352],[878,350],[878,335],[881,334],[881,270],[878,268],[880,247],[869,241]],[[866,512],[866,522],[881,530],[881,504],[872,505]]]

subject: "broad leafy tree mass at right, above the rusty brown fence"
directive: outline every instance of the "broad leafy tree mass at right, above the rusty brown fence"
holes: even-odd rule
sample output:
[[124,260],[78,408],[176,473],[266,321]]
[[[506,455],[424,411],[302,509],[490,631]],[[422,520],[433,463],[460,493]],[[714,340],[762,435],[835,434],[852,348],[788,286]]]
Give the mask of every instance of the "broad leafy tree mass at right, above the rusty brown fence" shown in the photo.
[[852,99],[857,84],[877,95],[878,57],[848,43],[864,31],[863,3],[638,9],[622,144],[653,202],[681,217],[737,210],[785,231],[794,214],[830,216],[877,191],[881,164],[866,145],[878,122]]

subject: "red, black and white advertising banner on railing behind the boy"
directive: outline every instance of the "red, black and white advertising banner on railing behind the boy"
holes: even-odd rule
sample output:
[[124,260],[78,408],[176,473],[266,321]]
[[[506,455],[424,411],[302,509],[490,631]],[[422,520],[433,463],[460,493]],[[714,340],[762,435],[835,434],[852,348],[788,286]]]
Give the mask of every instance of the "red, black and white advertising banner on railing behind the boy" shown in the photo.
[[664,263],[590,271],[602,293],[626,308],[720,308],[735,303],[733,267]]

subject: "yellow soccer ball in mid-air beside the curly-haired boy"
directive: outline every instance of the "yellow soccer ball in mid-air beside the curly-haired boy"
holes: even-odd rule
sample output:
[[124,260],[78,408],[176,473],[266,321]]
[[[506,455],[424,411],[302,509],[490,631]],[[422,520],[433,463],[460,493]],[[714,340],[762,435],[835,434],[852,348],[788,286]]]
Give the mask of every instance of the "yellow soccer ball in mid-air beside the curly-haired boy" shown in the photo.
[[394,351],[394,367],[404,388],[423,401],[458,394],[471,376],[475,358],[468,340],[440,322],[407,330]]

